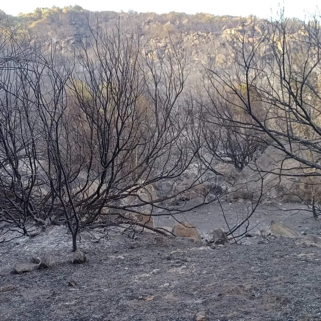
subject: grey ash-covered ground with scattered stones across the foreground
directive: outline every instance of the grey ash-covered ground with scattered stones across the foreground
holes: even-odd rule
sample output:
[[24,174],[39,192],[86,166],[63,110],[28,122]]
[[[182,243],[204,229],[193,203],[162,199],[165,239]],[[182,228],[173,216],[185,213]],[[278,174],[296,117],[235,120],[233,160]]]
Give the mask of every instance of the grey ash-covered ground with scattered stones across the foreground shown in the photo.
[[[232,223],[241,206],[224,207]],[[318,235],[316,222],[298,208],[261,206],[251,219],[252,227],[259,224],[253,234],[274,220]],[[204,232],[226,228],[220,206],[185,219]],[[172,221],[164,216],[156,225]],[[96,243],[102,235],[82,235],[79,248],[87,261],[79,265],[71,263],[71,239],[62,226],[1,245],[0,319],[192,321],[205,311],[213,321],[321,320],[321,248],[307,247],[299,238],[252,236],[243,239],[247,245],[211,248],[173,237],[169,247],[157,246],[155,234],[131,240],[118,229]],[[12,273],[15,263],[45,253],[55,260],[49,269]]]

